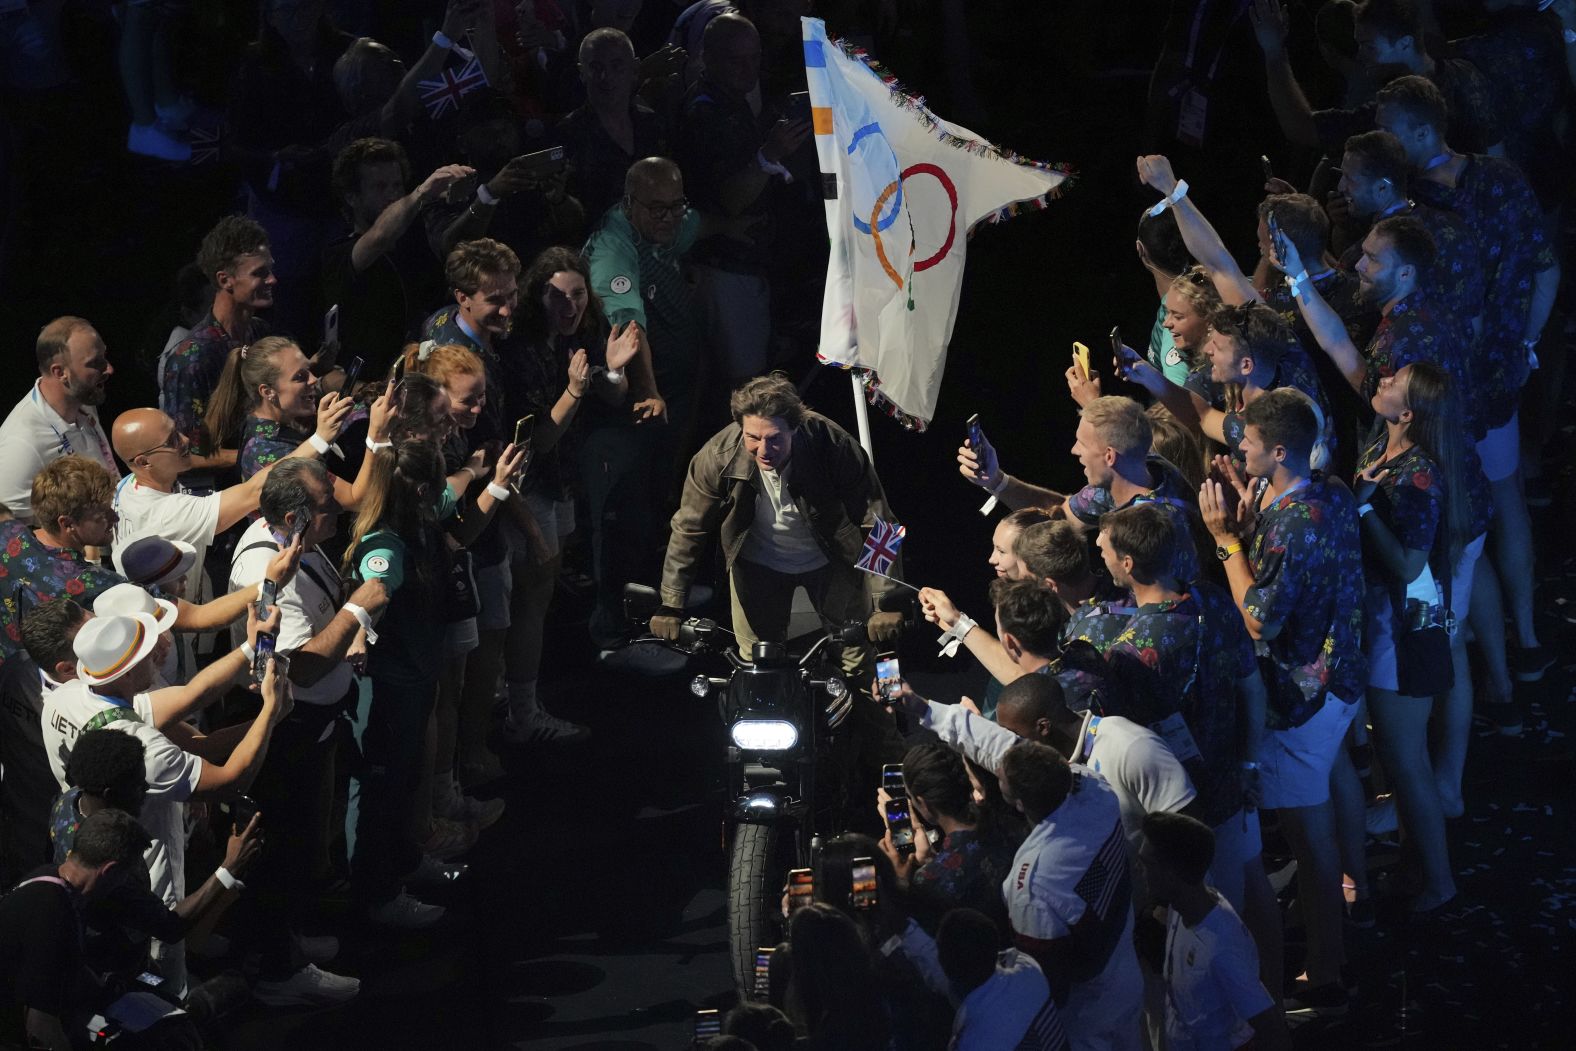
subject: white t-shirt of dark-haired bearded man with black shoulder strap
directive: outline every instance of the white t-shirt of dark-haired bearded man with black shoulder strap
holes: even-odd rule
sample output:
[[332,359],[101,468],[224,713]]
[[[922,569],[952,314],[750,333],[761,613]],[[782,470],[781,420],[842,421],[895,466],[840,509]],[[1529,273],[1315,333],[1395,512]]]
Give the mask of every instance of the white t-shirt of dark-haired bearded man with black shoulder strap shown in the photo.
[[[265,542],[274,547],[254,547]],[[263,574],[268,572],[268,563],[279,553],[277,544],[263,518],[247,526],[235,545],[229,589],[238,591],[262,580]],[[325,591],[322,585],[328,585],[334,591]],[[339,613],[337,588],[339,570],[320,548],[314,547],[301,555],[301,566],[290,583],[279,589],[279,638],[274,641],[277,652],[293,654],[328,627],[328,622]],[[236,646],[246,641],[244,624],[230,626],[230,633]],[[336,704],[350,690],[351,678],[350,665],[340,662],[312,685],[296,685],[293,689],[295,698],[306,704]]]

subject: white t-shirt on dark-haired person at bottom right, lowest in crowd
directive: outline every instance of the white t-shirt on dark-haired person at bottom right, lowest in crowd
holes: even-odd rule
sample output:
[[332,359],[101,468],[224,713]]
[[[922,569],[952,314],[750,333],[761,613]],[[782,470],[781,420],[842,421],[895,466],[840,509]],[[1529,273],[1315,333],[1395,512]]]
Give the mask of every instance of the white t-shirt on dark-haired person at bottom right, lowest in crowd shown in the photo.
[[1253,1038],[1248,1019],[1273,1004],[1253,936],[1218,893],[1198,927],[1171,911],[1163,979],[1171,1051],[1240,1048]]

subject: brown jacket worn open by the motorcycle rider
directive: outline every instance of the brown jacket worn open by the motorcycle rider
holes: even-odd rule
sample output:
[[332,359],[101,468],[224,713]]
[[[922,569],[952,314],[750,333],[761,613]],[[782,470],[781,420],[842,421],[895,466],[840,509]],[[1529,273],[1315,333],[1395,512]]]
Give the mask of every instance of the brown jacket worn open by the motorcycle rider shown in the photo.
[[[791,490],[794,503],[826,556],[853,566],[865,545],[865,534],[876,518],[892,522],[881,479],[859,440],[820,413],[807,411],[793,433]],[[662,566],[662,603],[684,608],[690,583],[706,542],[717,534],[722,555],[733,561],[755,525],[755,498],[760,468],[744,449],[739,424],[728,424],[700,448],[684,479],[684,498],[673,514],[668,558]],[[856,570],[857,572],[857,570]],[[901,559],[892,567],[901,577]],[[864,574],[872,602],[897,585]]]

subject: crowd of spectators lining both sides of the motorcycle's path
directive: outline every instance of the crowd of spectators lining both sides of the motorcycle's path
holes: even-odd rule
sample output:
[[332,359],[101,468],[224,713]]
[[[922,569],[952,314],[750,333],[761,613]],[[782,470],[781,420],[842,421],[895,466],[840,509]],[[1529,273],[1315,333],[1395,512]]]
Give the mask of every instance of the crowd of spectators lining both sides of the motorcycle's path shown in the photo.
[[[30,88],[58,6],[0,0]],[[589,737],[542,703],[555,603],[580,589],[596,651],[641,670],[619,596],[657,578],[690,455],[728,391],[808,364],[807,3],[449,0],[405,55],[331,6],[262,0],[233,57],[244,206],[191,246],[158,403],[101,421],[113,348],[38,317],[0,425],[3,1040],[84,1046],[99,1016],[195,1046],[247,997],[358,996],[314,895],[441,922],[424,890],[501,818],[473,794],[500,752]],[[963,25],[949,0],[829,6],[865,43]],[[1474,714],[1518,734],[1554,662],[1529,504],[1565,364],[1576,2],[1467,5],[1486,20],[1453,39],[1456,6],[1173,5],[1195,32],[1157,69],[1166,150],[1136,159],[1154,326],[1065,372],[1086,485],[958,449],[1007,511],[993,608],[919,610],[990,682],[890,698],[911,747],[873,802],[909,826],[821,846],[760,1002],[709,1046],[1289,1046],[1359,994],[1351,928],[1456,908]],[[184,5],[121,8],[128,150],[188,161]],[[1215,216],[1256,221],[1250,266],[1204,206],[1243,19],[1278,123],[1258,140],[1322,151]],[[1399,835],[1388,887],[1371,835]]]

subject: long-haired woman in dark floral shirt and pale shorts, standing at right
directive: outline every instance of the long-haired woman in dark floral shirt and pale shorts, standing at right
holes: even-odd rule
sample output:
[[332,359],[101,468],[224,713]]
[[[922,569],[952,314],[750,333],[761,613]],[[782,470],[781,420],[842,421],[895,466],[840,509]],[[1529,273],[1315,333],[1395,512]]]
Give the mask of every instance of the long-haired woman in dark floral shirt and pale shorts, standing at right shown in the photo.
[[1466,596],[1450,594],[1447,602],[1440,583],[1483,531],[1474,523],[1459,435],[1450,422],[1459,418],[1448,408],[1450,397],[1448,375],[1426,361],[1382,378],[1371,399],[1382,427],[1359,457],[1354,485],[1368,578],[1368,712],[1401,826],[1422,868],[1414,912],[1445,904],[1456,884],[1428,758],[1434,700],[1401,692],[1401,679],[1412,670],[1399,667],[1404,657],[1396,638],[1412,621],[1440,621],[1436,607],[1466,608]]

